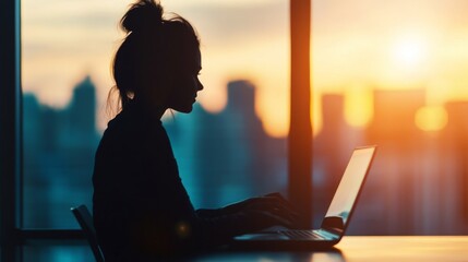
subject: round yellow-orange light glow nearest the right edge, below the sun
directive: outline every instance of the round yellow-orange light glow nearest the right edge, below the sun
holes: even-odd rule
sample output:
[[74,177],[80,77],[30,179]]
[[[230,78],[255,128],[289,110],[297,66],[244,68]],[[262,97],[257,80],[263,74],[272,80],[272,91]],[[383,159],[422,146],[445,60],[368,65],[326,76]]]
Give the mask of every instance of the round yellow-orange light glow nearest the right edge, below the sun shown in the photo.
[[422,131],[440,131],[447,124],[447,112],[443,107],[422,107],[416,112],[415,122]]

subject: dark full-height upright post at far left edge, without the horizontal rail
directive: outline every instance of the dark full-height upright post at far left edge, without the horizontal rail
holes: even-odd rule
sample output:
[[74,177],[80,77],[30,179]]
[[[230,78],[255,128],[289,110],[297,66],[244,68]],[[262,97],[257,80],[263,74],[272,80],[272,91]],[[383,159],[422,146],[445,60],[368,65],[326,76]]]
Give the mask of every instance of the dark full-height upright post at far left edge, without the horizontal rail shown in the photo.
[[0,2],[0,243],[1,261],[16,259],[21,168],[20,0]]

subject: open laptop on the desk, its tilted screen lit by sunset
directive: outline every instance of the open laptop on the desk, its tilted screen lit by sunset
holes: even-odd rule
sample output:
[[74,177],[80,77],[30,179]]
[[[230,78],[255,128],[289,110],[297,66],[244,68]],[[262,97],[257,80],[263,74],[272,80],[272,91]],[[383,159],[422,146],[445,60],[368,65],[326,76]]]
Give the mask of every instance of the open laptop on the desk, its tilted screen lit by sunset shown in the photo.
[[231,248],[240,249],[327,249],[338,243],[349,225],[362,186],[369,172],[376,146],[357,147],[319,229],[273,227],[237,236]]

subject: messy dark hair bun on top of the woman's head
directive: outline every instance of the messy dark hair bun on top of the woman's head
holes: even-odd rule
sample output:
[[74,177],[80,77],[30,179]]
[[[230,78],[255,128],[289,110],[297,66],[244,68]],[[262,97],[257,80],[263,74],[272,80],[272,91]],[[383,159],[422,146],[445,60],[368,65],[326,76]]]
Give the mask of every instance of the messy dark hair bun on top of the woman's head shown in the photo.
[[163,23],[163,7],[154,0],[141,0],[133,3],[123,15],[120,24],[127,33],[147,31]]

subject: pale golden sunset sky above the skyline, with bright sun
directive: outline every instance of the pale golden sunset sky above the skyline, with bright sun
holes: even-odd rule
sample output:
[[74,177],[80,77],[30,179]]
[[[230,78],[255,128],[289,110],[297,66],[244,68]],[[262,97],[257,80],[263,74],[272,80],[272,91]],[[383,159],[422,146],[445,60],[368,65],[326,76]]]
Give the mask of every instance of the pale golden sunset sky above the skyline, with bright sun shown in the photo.
[[[105,100],[112,86],[110,61],[123,37],[118,22],[130,3],[22,0],[23,91],[34,92],[44,104],[62,107],[72,87],[91,74],[98,87],[103,128]],[[221,110],[227,82],[250,80],[257,88],[256,112],[265,129],[285,135],[289,121],[288,1],[161,3],[166,11],[191,21],[200,33],[203,107]],[[428,107],[418,120],[422,122],[424,116],[443,116],[445,100],[468,99],[468,1],[315,0],[312,5],[314,98],[322,93],[346,94],[349,123],[362,126],[372,117],[372,88],[425,87]],[[317,99],[314,107],[320,112]],[[320,128],[320,115],[314,120]]]

